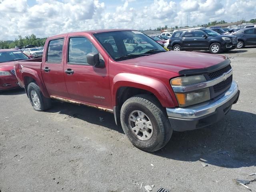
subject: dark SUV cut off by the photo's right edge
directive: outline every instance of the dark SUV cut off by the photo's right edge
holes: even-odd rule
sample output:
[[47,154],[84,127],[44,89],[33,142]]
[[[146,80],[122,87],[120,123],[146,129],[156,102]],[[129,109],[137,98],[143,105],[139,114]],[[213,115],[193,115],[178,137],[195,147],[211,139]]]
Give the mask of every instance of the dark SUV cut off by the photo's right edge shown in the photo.
[[247,45],[256,45],[256,28],[241,29],[234,33],[237,36],[237,48],[243,48]]

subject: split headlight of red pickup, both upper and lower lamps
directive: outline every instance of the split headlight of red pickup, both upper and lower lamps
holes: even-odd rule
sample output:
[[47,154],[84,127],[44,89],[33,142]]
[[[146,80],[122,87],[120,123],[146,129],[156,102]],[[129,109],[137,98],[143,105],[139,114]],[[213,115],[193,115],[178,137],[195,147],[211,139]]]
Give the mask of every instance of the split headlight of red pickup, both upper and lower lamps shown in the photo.
[[[202,82],[206,82],[206,78],[203,75],[178,77],[178,78],[174,78],[170,81],[173,88],[174,87],[182,87],[182,86],[190,86],[190,85],[198,84],[198,83],[202,83]],[[175,94],[176,94],[178,103],[181,107],[198,104],[198,103],[201,103],[201,102],[211,99],[209,88],[195,90],[192,92],[176,91]]]

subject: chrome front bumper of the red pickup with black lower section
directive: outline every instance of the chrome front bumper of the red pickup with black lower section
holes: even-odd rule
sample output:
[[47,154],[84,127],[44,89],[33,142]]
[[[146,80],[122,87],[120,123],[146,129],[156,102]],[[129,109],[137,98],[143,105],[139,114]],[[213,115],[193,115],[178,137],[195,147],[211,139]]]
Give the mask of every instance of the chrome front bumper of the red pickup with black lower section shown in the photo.
[[238,86],[233,81],[230,88],[217,98],[188,107],[166,108],[166,111],[174,130],[193,130],[208,126],[223,118],[231,109],[232,104],[238,100],[238,96]]

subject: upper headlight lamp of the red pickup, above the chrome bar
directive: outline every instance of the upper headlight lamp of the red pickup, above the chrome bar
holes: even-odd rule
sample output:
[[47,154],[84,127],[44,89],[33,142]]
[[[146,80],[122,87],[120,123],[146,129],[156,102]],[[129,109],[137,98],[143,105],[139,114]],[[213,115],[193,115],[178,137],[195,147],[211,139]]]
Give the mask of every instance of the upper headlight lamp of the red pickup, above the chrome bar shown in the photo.
[[206,79],[203,75],[194,75],[187,77],[178,77],[171,80],[171,85],[174,86],[186,86],[196,83],[206,82]]

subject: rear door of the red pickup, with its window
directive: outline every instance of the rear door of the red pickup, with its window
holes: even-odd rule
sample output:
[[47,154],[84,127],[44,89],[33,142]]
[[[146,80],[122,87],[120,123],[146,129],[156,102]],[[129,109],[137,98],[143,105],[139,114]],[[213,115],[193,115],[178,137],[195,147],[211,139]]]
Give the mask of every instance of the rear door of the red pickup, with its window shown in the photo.
[[63,71],[63,55],[65,36],[47,41],[46,56],[42,61],[42,76],[50,96],[70,99]]

